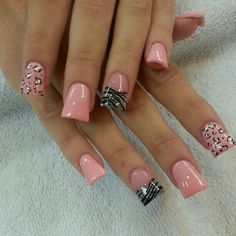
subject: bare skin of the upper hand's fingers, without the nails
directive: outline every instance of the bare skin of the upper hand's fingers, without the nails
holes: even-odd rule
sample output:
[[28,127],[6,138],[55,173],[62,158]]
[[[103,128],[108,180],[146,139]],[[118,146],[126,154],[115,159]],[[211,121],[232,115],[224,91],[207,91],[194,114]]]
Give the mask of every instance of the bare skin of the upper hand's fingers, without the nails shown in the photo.
[[[173,0],[23,2],[27,5],[27,19],[22,68],[30,61],[39,62],[45,69],[46,84],[49,84],[53,78],[60,42],[64,32],[68,30],[63,97],[66,98],[74,83],[86,84],[91,93],[91,109],[95,102],[115,12],[114,35],[105,68],[104,87],[112,73],[121,72],[128,79],[129,100],[137,80],[143,51],[148,53],[150,46],[159,42],[166,48],[168,58],[171,55]],[[21,3],[16,1],[16,4]],[[69,25],[68,29],[66,25]],[[137,36],[139,40],[134,40]]]

